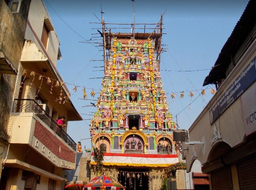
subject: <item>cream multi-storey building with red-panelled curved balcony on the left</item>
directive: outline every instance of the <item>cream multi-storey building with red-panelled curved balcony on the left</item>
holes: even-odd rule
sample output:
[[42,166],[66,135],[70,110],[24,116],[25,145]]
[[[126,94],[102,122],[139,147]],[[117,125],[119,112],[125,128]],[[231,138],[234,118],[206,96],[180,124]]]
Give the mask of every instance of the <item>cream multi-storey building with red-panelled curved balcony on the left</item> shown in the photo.
[[[57,72],[60,43],[42,0],[31,1],[25,23],[1,188],[59,190],[67,181],[65,170],[75,168],[76,143],[66,133],[68,121],[82,118]],[[56,123],[60,116],[66,118],[63,129]]]

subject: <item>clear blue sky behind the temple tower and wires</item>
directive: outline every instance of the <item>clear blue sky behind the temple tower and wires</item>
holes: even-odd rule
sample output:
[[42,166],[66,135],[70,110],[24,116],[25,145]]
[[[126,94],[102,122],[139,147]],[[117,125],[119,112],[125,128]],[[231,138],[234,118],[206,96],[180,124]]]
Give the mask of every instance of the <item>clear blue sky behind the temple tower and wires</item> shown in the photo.
[[[87,40],[91,36],[95,36],[91,34],[97,33],[96,29],[91,30],[91,28],[101,27],[100,24],[89,24],[89,22],[98,22],[93,13],[100,18],[100,5],[102,5],[105,13],[105,22],[133,23],[133,7],[130,0],[77,0],[75,2],[71,0],[48,0],[48,2],[67,24]],[[160,14],[164,13],[166,9],[163,32],[167,34],[163,35],[163,41],[164,44],[168,45],[171,54],[168,52],[162,53],[160,69],[180,70],[173,57],[183,70],[209,69],[214,65],[224,43],[241,17],[247,2],[248,0],[135,0],[135,21],[136,23],[157,23]],[[92,70],[101,70],[101,68],[93,68],[93,66],[103,66],[103,62],[89,62],[89,60],[94,57],[96,60],[102,59],[102,52],[98,52],[98,49],[91,44],[80,43],[79,41],[83,41],[83,39],[63,23],[46,1],[45,5],[60,40],[62,60],[57,62],[57,69],[63,80],[71,82],[76,77],[73,81],[76,85],[101,89],[101,79],[89,78],[103,76],[103,71],[92,72]],[[130,29],[127,29],[127,32],[130,32]],[[85,67],[86,69],[83,70]],[[82,70],[83,72],[80,73]],[[206,70],[186,72],[186,75],[194,87],[201,90],[208,73],[209,70]],[[162,71],[161,76],[166,92],[195,90],[182,72]],[[73,92],[73,86],[69,85],[68,89],[72,94],[71,100],[80,114],[92,114],[89,111],[96,111],[94,107],[80,107],[90,105],[90,100],[79,100],[79,98],[82,98],[82,89],[79,90],[78,88],[77,93]],[[98,94],[92,98],[89,95],[90,92],[90,90],[87,90],[88,98],[97,99]],[[95,92],[98,91],[95,90]],[[170,94],[167,94],[170,112],[176,115],[182,111],[183,107],[188,106],[198,93],[194,92],[194,95],[191,99],[188,97],[188,93],[184,93],[184,99],[179,99],[178,93],[172,101]],[[207,89],[204,102],[199,97],[182,111],[177,116],[179,126],[188,129],[211,97],[212,95]],[[81,116],[84,119],[91,118],[91,116]],[[89,123],[89,120],[86,120],[86,122]],[[89,126],[86,122],[68,123],[68,134],[75,142],[90,137]],[[86,145],[86,148],[91,148],[90,139],[82,140],[81,143],[82,146]]]

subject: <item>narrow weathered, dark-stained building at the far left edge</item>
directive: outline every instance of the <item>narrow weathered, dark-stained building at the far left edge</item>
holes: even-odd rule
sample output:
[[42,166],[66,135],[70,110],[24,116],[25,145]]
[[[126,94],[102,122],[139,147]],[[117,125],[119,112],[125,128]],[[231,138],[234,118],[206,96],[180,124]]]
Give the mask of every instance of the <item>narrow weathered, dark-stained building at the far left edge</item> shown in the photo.
[[[24,43],[30,0],[15,7],[0,0],[0,159],[3,160],[9,135],[7,126],[15,81]],[[0,167],[0,176],[2,167]]]

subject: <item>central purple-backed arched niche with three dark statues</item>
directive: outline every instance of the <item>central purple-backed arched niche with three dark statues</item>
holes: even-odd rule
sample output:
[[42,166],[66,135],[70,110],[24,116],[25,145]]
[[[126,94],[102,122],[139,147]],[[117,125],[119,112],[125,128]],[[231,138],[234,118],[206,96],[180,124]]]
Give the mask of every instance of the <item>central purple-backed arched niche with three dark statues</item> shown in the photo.
[[[129,147],[129,148],[128,148]],[[134,147],[134,148],[133,148]],[[124,153],[144,153],[144,142],[139,135],[129,135],[123,144]]]

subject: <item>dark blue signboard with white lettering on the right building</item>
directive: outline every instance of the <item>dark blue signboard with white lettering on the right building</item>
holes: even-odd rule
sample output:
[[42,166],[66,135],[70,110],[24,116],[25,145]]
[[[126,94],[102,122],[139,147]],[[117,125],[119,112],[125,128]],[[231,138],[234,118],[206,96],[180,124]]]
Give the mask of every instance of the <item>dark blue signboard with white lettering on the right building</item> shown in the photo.
[[210,110],[211,124],[256,80],[256,56]]

